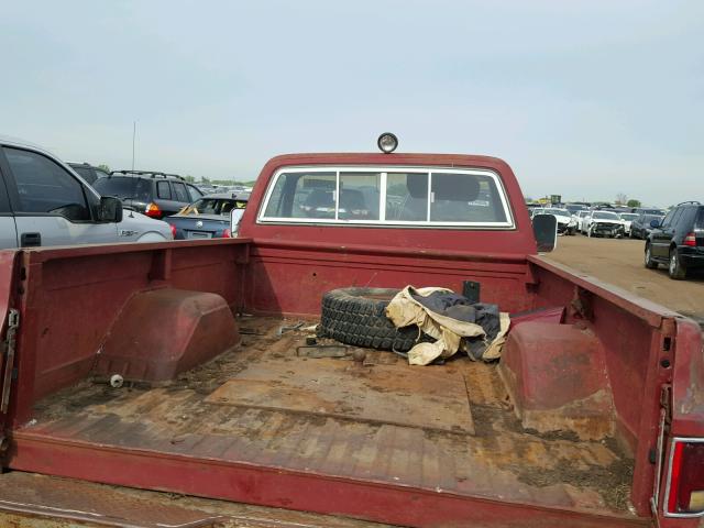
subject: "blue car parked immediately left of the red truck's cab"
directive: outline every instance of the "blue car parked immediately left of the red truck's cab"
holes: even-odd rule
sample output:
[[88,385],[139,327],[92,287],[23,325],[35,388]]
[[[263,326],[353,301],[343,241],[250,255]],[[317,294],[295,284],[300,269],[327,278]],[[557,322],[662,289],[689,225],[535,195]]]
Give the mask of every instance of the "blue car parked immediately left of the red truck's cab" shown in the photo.
[[249,199],[249,193],[208,195],[164,220],[174,227],[176,240],[228,239],[230,212],[244,209]]

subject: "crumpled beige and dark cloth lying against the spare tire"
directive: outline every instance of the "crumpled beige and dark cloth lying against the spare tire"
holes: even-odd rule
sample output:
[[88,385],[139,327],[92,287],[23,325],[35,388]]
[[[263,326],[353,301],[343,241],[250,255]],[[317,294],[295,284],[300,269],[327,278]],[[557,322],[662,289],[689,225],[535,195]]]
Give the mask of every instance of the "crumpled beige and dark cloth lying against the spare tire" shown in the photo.
[[396,328],[417,324],[436,339],[417,343],[408,352],[411,365],[428,365],[463,351],[472,361],[493,361],[501,356],[510,320],[495,305],[471,304],[451,289],[406,286],[386,307]]

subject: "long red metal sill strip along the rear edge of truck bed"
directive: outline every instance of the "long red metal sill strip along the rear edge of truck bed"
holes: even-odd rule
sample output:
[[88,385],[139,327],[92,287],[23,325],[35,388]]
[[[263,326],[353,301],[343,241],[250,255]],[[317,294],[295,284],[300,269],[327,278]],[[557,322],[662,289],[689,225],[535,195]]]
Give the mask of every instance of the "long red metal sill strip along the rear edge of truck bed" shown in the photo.
[[[173,491],[249,504],[413,527],[602,528],[650,526],[647,519],[598,515],[587,510],[460,496],[407,486],[332,477],[217,460],[197,460],[135,449],[52,441],[18,433],[12,465],[133,487]],[[85,461],[90,463],[86,464]]]

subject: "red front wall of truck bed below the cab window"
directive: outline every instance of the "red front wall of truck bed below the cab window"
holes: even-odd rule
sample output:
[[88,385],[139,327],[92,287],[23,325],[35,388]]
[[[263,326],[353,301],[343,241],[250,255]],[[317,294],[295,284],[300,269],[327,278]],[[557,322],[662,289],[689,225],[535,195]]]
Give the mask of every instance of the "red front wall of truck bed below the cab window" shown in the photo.
[[249,267],[248,307],[258,312],[320,312],[326,292],[348,286],[443,286],[462,292],[463,280],[482,284],[482,301],[504,311],[528,308],[526,260],[496,255],[474,258],[397,252],[394,249],[256,242]]

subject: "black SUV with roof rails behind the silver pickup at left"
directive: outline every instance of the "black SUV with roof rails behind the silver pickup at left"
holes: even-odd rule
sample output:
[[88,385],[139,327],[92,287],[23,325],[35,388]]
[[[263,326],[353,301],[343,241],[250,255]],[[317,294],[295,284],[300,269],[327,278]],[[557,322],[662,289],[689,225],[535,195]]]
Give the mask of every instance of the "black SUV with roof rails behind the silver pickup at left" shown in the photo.
[[147,217],[175,215],[204,194],[176,174],[152,170],[113,170],[92,187],[101,196],[117,196],[125,208]]

